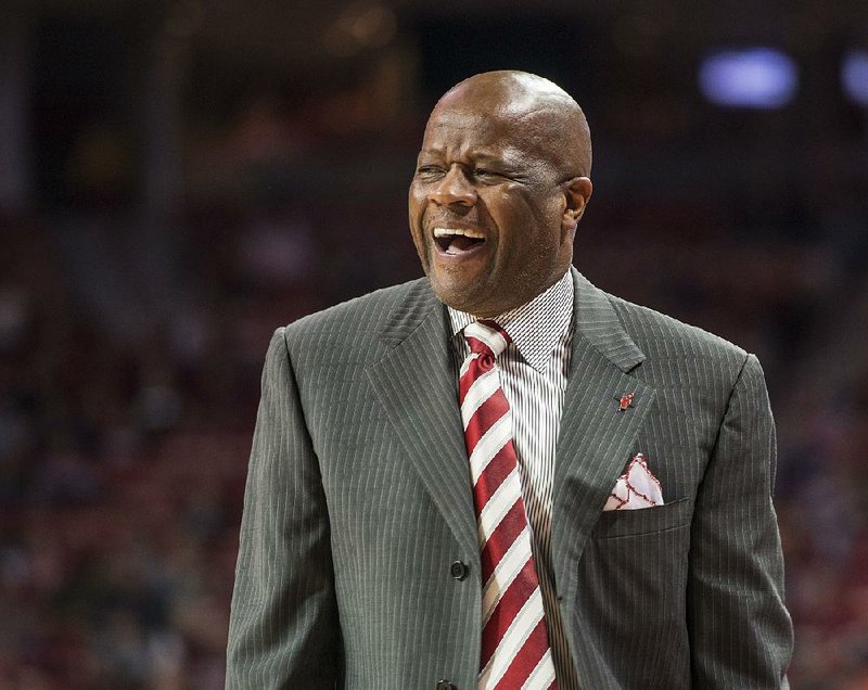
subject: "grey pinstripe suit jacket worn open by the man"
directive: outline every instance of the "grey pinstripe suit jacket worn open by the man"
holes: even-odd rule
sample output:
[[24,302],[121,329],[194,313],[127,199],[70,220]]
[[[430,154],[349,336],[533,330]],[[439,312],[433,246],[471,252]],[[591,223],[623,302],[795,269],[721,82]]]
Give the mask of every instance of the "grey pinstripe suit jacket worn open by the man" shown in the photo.
[[[583,687],[786,687],[775,432],[756,358],[573,277],[552,564]],[[622,412],[624,393],[635,397]],[[666,504],[602,512],[636,452]],[[481,583],[467,463],[448,319],[426,280],[279,329],[227,686],[474,688]],[[464,579],[451,576],[455,561]]]

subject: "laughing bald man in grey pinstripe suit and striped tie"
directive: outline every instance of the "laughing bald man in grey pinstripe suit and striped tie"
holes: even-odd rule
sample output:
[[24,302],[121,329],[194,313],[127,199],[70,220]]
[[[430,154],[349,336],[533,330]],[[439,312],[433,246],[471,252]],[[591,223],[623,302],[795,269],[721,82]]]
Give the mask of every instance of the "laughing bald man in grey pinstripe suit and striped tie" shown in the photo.
[[427,278],[278,330],[229,687],[786,687],[762,370],[571,267],[590,165],[556,85],[462,81],[410,187]]

